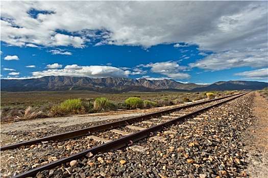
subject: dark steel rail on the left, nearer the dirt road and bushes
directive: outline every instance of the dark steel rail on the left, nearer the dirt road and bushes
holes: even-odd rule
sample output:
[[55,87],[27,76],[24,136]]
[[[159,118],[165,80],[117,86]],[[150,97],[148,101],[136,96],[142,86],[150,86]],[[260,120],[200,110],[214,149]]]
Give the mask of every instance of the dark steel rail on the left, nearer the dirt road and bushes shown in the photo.
[[233,96],[240,95],[240,94],[241,93],[229,95],[229,96],[225,96],[225,97],[221,97],[221,98],[215,98],[212,100],[197,102],[197,103],[193,103],[193,104],[187,104],[187,105],[179,106],[179,107],[172,108],[172,109],[166,109],[166,110],[152,112],[152,113],[145,114],[145,115],[134,116],[134,117],[128,118],[126,120],[116,121],[116,122],[102,124],[102,125],[98,125],[98,126],[87,127],[87,128],[83,128],[83,129],[79,129],[79,130],[75,130],[75,131],[64,132],[64,133],[46,136],[46,137],[42,137],[42,138],[32,139],[32,140],[18,142],[18,143],[14,143],[14,144],[9,144],[9,145],[2,146],[0,148],[0,150],[4,151],[4,150],[15,149],[15,148],[20,147],[22,145],[32,145],[35,143],[40,143],[41,141],[51,141],[51,140],[63,141],[63,140],[71,139],[71,138],[76,138],[76,137],[80,137],[83,135],[87,135],[89,133],[104,131],[104,130],[108,130],[108,129],[112,129],[112,128],[116,128],[116,127],[120,127],[120,126],[124,126],[124,125],[128,125],[128,124],[132,124],[132,123],[135,123],[135,122],[140,121],[140,120],[147,120],[148,118],[152,118],[155,116],[174,112],[174,111],[177,111],[179,109],[184,109],[184,108],[191,107],[191,106],[205,104],[205,103],[209,103],[212,101],[222,100],[222,99],[233,97]]

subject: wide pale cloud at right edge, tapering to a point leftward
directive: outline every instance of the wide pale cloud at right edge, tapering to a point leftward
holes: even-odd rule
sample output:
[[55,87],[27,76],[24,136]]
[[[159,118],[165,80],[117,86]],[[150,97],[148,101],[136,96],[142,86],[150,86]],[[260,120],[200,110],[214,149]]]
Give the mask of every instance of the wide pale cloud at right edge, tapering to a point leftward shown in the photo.
[[[245,55],[248,54],[248,55]],[[266,54],[265,54],[266,53]],[[267,49],[231,50],[210,54],[202,60],[189,64],[206,71],[218,71],[234,67],[267,67]]]

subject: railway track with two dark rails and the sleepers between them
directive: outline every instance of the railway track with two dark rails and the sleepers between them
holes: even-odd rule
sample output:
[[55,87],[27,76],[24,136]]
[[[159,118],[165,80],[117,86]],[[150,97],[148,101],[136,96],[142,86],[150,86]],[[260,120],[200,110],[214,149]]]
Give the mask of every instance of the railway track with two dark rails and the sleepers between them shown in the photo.
[[[26,142],[20,142],[12,145],[7,145],[1,147],[1,151],[7,149],[15,149],[19,146],[33,145],[40,142],[48,141],[62,141],[71,138],[83,137],[82,139],[87,139],[93,144],[88,145],[90,149],[84,150],[82,152],[76,153],[74,155],[62,158],[60,160],[54,161],[31,169],[27,172],[23,172],[14,177],[28,177],[38,173],[39,171],[50,169],[61,165],[62,163],[69,162],[71,160],[76,160],[81,157],[89,156],[89,154],[96,154],[99,152],[107,152],[109,150],[119,149],[126,145],[131,145],[132,143],[141,140],[148,136],[153,136],[154,139],[161,139],[154,136],[155,132],[161,131],[170,125],[176,124],[183,121],[185,118],[197,115],[204,110],[211,107],[215,107],[222,103],[228,102],[235,98],[238,98],[247,93],[236,94],[228,97],[218,98],[210,101],[194,103],[191,105],[186,105],[182,107],[177,107],[169,110],[154,112],[151,114],[146,114],[142,116],[132,117],[128,120],[117,121],[114,123],[108,123],[100,126],[89,127],[77,131],[72,131],[68,133],[57,134],[49,137],[39,138],[36,140],[29,140]],[[230,98],[230,99],[229,99]],[[220,102],[217,102],[220,100]],[[212,102],[212,104],[211,104]],[[204,107],[205,105],[205,107]],[[194,107],[192,109],[189,109]],[[190,113],[189,113],[190,112]],[[145,121],[146,120],[146,121]],[[85,136],[86,135],[86,136]],[[88,136],[87,136],[88,135]],[[112,138],[111,135],[114,137]],[[72,140],[75,141],[75,140]],[[103,143],[103,144],[102,144]],[[66,144],[67,145],[67,144]],[[85,147],[82,148],[82,150]]]

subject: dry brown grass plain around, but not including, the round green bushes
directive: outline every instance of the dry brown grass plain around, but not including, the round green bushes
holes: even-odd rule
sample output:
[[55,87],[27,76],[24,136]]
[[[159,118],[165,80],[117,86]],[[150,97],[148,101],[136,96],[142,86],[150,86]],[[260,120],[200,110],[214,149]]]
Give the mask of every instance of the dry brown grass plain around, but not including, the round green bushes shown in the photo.
[[[230,95],[232,92],[213,92],[216,97]],[[129,109],[125,101],[131,97],[150,100],[158,106],[169,106],[187,101],[206,98],[206,92],[196,93],[121,93],[102,94],[91,91],[42,91],[42,92],[1,92],[1,121],[10,118],[37,118],[64,115],[59,105],[67,99],[81,99],[83,109],[79,113],[92,113],[96,98],[105,97],[115,104],[115,108]],[[187,98],[187,101],[185,100]],[[76,112],[77,113],[77,112]]]

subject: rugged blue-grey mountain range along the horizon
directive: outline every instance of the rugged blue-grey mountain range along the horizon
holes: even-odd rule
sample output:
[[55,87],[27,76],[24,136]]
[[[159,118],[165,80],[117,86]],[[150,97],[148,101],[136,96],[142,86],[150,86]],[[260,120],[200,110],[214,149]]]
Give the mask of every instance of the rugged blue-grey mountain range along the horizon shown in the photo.
[[172,79],[148,80],[145,78],[88,78],[67,76],[45,76],[32,79],[1,79],[1,91],[94,91],[101,93],[123,92],[202,92],[226,90],[260,90],[268,87],[266,82],[219,81],[210,85],[181,83]]

